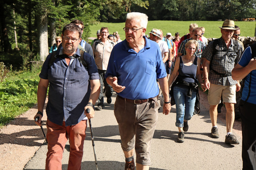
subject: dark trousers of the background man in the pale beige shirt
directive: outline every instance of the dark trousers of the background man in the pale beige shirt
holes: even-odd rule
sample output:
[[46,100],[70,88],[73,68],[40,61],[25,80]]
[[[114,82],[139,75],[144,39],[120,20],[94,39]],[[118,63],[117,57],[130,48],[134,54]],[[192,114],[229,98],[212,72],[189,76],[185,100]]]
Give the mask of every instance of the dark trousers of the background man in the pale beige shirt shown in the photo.
[[101,82],[101,92],[98,98],[98,106],[99,105],[104,105],[104,100],[103,100],[103,86],[105,87],[105,96],[107,98],[110,98],[113,94],[113,88],[107,83],[106,79],[105,79],[105,74],[106,74],[106,70],[99,70],[98,69],[98,73],[100,76],[100,82]]

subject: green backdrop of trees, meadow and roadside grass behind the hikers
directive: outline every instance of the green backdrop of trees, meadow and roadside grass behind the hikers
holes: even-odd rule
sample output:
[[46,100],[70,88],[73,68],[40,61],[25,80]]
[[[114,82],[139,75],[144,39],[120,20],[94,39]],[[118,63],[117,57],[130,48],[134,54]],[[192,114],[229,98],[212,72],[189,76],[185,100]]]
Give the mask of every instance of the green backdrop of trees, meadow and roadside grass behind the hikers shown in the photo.
[[236,20],[241,36],[256,30],[256,22],[241,22],[256,18],[256,0],[0,0],[0,11],[0,127],[37,102],[42,61],[74,19],[84,23],[84,40],[102,26],[124,40],[126,14],[134,11],[149,17],[147,33],[157,28],[183,36],[197,23],[207,38],[218,38],[225,19]]

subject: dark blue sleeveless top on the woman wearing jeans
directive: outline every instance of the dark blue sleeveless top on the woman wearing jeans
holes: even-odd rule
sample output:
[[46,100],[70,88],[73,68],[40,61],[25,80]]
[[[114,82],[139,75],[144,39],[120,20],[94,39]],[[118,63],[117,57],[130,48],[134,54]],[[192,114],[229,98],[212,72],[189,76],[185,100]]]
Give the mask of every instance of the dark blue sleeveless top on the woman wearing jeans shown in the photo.
[[197,57],[190,66],[184,65],[180,56],[180,69],[178,78],[188,83],[196,83]]

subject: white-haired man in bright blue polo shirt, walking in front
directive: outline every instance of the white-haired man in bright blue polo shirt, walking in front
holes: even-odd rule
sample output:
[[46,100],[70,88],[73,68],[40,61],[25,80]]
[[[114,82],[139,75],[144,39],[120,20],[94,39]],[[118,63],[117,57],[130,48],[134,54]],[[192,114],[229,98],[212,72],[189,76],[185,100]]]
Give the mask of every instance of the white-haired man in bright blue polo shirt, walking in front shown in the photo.
[[[107,83],[117,92],[114,113],[119,126],[121,147],[125,156],[125,170],[148,170],[150,145],[158,119],[158,79],[165,104],[163,114],[169,114],[169,88],[166,69],[158,44],[144,34],[147,15],[127,14],[125,40],[112,50],[105,74]],[[136,138],[136,139],[135,139]]]

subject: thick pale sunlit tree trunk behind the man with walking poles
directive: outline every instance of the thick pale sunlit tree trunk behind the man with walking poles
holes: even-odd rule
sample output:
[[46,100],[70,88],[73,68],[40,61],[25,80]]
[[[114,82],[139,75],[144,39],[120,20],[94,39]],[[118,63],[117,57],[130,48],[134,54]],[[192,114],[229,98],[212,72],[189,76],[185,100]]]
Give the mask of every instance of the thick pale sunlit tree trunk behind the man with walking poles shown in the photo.
[[48,47],[48,31],[47,31],[47,13],[44,9],[41,9],[41,14],[38,15],[37,29],[38,29],[38,40],[39,40],[39,54],[40,60],[45,61],[45,58],[49,54]]

